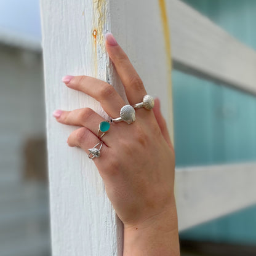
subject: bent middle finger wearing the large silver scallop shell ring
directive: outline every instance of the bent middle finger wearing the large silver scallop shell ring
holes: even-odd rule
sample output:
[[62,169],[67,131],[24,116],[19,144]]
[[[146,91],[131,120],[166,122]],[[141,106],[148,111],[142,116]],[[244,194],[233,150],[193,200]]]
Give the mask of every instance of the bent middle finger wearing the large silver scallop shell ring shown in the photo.
[[122,106],[126,105],[114,87],[107,82],[90,76],[65,76],[62,81],[71,89],[80,90],[95,98],[112,118],[118,118]]

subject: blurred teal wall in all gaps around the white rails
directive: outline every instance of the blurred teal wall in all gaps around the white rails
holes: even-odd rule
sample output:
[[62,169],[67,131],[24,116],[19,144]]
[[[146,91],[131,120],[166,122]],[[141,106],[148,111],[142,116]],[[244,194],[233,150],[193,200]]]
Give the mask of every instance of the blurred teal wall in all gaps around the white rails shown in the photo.
[[[256,1],[184,2],[256,50]],[[177,70],[172,80],[177,166],[256,160],[254,95]],[[183,231],[180,237],[256,245],[256,206]]]

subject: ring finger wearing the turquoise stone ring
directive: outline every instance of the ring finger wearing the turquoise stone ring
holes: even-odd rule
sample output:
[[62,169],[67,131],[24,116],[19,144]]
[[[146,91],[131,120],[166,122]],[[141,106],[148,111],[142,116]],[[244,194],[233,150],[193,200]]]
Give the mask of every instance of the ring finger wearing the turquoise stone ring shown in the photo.
[[[81,108],[73,111],[55,110],[54,117],[62,124],[69,126],[84,126],[98,137],[98,127],[100,122],[105,121],[100,115],[90,108]],[[108,145],[111,139],[111,133],[103,136],[102,140]]]

